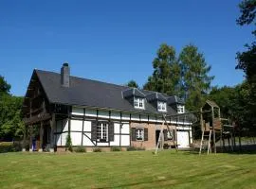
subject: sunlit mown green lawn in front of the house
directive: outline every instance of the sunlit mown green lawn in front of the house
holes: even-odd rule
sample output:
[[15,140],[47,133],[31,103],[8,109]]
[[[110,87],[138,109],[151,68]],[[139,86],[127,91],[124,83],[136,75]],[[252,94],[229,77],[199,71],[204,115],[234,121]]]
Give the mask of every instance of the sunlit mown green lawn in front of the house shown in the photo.
[[0,154],[0,188],[256,188],[256,154]]

